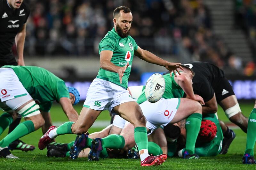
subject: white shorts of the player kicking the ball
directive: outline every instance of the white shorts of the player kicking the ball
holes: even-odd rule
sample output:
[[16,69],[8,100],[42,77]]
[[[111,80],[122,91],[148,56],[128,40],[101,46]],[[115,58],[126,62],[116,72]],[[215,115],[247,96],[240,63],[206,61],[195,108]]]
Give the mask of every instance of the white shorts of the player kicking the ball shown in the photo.
[[90,85],[84,107],[93,110],[108,110],[117,115],[112,109],[125,102],[135,101],[128,90],[107,80],[95,78]]

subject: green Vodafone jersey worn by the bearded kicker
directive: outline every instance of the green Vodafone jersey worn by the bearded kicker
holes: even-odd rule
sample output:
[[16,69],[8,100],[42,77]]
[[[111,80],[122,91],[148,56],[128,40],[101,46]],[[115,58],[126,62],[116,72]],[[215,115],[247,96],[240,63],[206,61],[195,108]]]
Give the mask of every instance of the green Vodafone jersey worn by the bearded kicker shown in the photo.
[[119,67],[124,67],[127,65],[127,62],[129,62],[129,66],[124,72],[122,84],[120,84],[119,75],[117,73],[107,71],[102,68],[100,68],[96,78],[108,80],[127,89],[128,78],[132,68],[133,54],[137,49],[138,45],[131,36],[122,38],[116,33],[115,28],[113,28],[111,31],[108,31],[105,37],[100,41],[99,54],[104,50],[113,51],[113,56],[110,60],[113,64]]

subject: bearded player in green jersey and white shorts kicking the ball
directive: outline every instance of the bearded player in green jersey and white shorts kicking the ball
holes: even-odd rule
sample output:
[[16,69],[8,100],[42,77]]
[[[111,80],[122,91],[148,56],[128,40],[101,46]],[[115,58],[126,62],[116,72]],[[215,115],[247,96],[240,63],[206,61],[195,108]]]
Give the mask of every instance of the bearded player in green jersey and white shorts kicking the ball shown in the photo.
[[[147,50],[141,49],[129,36],[132,12],[125,6],[117,7],[113,14],[114,28],[100,41],[100,70],[87,92],[84,107],[77,122],[66,122],[60,127],[52,126],[38,147],[44,149],[55,137],[62,134],[83,134],[103,110],[118,114],[134,126],[134,138],[139,148],[141,166],[160,165],[166,155],[149,156],[146,119],[139,105],[130,97],[127,89],[133,55],[148,63],[164,66],[172,72],[180,63],[167,62]],[[177,70],[180,74],[180,72]],[[176,76],[176,72],[174,73]],[[97,147],[95,148],[97,150]],[[96,152],[96,151],[95,151]],[[97,152],[98,156],[98,152]],[[89,158],[91,160],[96,157]]]

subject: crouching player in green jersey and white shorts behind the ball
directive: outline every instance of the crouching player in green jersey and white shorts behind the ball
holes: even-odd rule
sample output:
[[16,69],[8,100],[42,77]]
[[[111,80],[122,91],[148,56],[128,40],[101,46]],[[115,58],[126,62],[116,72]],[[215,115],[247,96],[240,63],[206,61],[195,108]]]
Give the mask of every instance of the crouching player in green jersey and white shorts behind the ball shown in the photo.
[[[202,120],[202,106],[199,102],[204,104],[203,99],[198,95],[194,95],[193,93],[191,81],[192,78],[193,72],[189,68],[186,68],[179,77],[171,77],[169,74],[164,75],[165,92],[163,98],[156,103],[150,103],[146,100],[143,90],[139,99],[137,100],[137,102],[140,104],[142,112],[144,113],[144,116],[147,119],[146,127],[148,134],[156,130],[161,125],[165,126],[170,122],[176,123],[184,118],[187,118],[189,123],[186,124],[186,129],[190,133],[188,133],[187,136],[187,154],[184,154],[183,157],[186,159],[199,158],[197,155],[195,155],[196,137]],[[181,98],[184,92],[186,92],[191,99]],[[132,133],[133,126],[131,123],[125,121],[120,116],[115,116],[113,125],[122,129],[120,135],[109,135],[108,137],[102,139],[93,139],[91,151],[88,157],[89,160],[98,160],[100,152],[104,148],[128,150],[136,144]],[[84,140],[88,141],[87,138],[88,137],[86,137]],[[80,143],[83,143],[82,146]],[[75,145],[77,147],[85,147],[86,144],[86,142],[81,140],[81,142],[76,142]],[[81,149],[78,149],[77,151],[76,149],[74,151],[71,150],[71,154],[78,155],[80,151]]]

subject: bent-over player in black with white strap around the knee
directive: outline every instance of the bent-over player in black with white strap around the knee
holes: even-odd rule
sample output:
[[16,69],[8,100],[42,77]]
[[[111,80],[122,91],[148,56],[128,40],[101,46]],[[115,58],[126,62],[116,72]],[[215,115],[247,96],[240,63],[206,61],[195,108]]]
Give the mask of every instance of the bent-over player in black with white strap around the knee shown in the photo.
[[[202,96],[205,101],[203,115],[216,113],[219,104],[228,119],[247,132],[248,118],[242,114],[236,95],[224,72],[217,66],[206,62],[190,62],[184,65],[195,72],[195,77],[192,80],[193,89],[195,94]],[[236,135],[225,125],[221,124],[221,128],[224,138],[220,154],[226,154]]]

